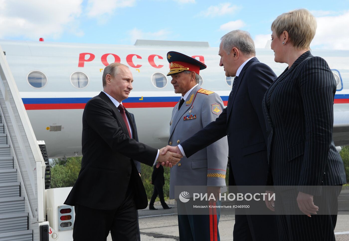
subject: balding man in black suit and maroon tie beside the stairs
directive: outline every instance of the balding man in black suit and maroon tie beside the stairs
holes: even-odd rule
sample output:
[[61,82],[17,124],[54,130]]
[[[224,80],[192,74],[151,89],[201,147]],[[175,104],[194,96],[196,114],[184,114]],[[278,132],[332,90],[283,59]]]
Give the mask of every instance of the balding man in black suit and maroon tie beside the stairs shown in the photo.
[[178,154],[159,154],[134,139],[135,126],[121,103],[132,82],[126,65],[108,65],[104,91],[84,109],[81,170],[65,201],[75,206],[74,241],[105,241],[109,231],[113,240],[136,240],[137,209],[146,208],[148,199],[133,159],[149,166],[179,161]]

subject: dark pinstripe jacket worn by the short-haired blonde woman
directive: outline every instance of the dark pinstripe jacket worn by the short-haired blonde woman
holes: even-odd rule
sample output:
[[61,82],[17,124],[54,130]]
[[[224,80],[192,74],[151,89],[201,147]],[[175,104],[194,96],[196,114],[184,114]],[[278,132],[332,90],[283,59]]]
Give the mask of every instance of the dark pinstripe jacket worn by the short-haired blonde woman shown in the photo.
[[321,195],[321,185],[346,183],[333,138],[336,82],[326,61],[302,54],[268,88],[263,99],[267,125],[269,184],[313,185],[299,191]]

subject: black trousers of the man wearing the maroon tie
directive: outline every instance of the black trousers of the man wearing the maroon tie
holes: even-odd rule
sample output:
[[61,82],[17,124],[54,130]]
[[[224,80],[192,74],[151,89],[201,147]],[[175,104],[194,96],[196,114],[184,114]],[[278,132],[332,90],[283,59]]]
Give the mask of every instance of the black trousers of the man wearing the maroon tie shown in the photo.
[[139,227],[133,196],[132,189],[128,188],[124,202],[116,210],[76,205],[73,240],[105,241],[110,231],[114,241],[137,241]]

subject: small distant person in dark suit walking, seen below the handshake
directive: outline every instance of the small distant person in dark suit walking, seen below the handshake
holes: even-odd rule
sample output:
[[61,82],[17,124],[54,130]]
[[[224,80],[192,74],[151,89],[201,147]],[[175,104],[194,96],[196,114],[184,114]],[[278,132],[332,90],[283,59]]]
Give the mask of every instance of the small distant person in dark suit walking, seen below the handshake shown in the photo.
[[151,184],[154,185],[154,191],[153,195],[150,198],[149,203],[149,209],[150,210],[157,210],[154,207],[154,202],[156,197],[159,195],[160,203],[163,207],[163,209],[170,209],[164,199],[164,190],[163,185],[165,185],[165,178],[164,178],[164,168],[162,166],[159,166],[156,168],[156,166],[153,167],[153,173],[151,174]]

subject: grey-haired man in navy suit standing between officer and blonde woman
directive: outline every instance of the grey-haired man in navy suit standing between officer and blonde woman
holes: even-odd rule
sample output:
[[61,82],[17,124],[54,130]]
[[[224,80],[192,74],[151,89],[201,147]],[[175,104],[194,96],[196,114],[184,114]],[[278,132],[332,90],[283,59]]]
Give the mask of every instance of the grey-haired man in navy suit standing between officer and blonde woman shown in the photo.
[[[224,66],[226,76],[236,76],[227,108],[216,121],[193,137],[177,147],[167,146],[164,151],[169,149],[188,157],[228,136],[229,185],[265,185],[268,160],[262,100],[276,76],[254,57],[254,43],[248,32],[234,30],[224,35],[221,41],[220,66]],[[275,216],[239,213],[235,217],[235,241],[265,240],[266,234],[269,240],[277,240]]]

